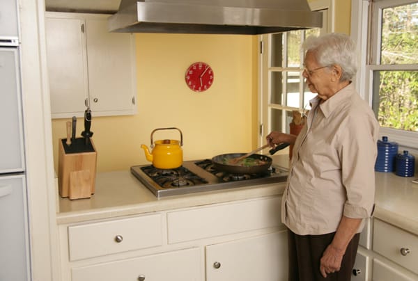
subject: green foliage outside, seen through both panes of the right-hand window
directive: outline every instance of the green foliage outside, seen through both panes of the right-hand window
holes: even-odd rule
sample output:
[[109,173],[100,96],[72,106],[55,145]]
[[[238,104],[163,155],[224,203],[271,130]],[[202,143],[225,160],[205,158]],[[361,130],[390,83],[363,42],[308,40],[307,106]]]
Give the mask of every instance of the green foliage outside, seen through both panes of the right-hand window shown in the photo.
[[[418,3],[383,11],[380,61],[418,63]],[[380,71],[378,78],[380,125],[418,131],[418,71]]]

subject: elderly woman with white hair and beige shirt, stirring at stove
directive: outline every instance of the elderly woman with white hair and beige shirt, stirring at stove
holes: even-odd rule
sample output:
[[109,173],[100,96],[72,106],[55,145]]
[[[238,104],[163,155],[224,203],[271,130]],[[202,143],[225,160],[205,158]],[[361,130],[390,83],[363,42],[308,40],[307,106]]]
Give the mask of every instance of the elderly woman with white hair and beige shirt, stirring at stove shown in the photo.
[[298,136],[277,131],[274,147],[292,143],[281,220],[288,227],[289,280],[350,280],[359,232],[373,213],[379,125],[351,80],[355,44],[347,35],[309,37],[303,76],[312,93]]

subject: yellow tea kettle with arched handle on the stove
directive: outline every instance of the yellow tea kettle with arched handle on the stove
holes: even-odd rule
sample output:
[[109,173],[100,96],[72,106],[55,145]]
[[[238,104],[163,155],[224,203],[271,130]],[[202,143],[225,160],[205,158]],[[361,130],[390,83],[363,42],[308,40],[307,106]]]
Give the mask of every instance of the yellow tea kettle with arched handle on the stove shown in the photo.
[[[155,140],[155,147],[153,145],[153,134],[159,130],[171,130],[176,129],[180,132],[180,141],[178,140]],[[153,152],[148,150],[146,145],[141,145],[141,148],[145,152],[146,159],[153,162],[153,166],[158,169],[174,169],[183,164],[183,150],[180,146],[183,146],[183,134],[178,128],[159,128],[154,129],[151,132],[151,145]]]

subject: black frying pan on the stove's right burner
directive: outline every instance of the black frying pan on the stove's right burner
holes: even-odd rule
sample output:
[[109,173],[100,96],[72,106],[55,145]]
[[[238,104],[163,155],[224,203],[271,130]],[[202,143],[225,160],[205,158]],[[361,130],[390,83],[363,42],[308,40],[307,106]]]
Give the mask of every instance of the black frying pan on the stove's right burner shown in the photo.
[[[285,147],[288,147],[288,143],[281,143],[274,147],[269,153],[272,155],[279,150],[283,150]],[[220,154],[214,156],[212,158],[213,167],[221,172],[229,172],[231,174],[258,174],[262,172],[266,172],[268,168],[272,165],[272,159],[269,156],[261,155],[261,154],[252,154],[248,156],[248,158],[258,159],[261,161],[265,161],[265,163],[256,166],[237,166],[237,165],[229,165],[225,160],[237,158],[240,156],[244,156],[246,153],[228,153],[228,154]]]

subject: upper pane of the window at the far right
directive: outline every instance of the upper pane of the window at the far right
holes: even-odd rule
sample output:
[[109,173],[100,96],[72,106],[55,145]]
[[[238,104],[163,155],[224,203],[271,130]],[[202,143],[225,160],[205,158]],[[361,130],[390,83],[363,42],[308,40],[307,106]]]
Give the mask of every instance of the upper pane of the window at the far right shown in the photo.
[[418,63],[418,3],[382,11],[381,64]]

